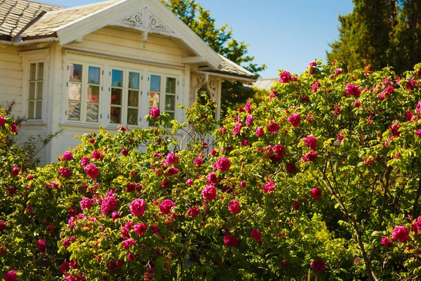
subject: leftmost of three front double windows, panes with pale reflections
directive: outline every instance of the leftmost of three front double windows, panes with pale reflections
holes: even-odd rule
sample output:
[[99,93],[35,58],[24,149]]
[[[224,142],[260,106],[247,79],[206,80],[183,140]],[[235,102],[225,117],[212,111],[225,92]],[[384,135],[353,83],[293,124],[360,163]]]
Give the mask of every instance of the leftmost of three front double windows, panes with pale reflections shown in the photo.
[[99,122],[100,80],[100,67],[76,63],[69,65],[67,93],[67,119],[69,121]]

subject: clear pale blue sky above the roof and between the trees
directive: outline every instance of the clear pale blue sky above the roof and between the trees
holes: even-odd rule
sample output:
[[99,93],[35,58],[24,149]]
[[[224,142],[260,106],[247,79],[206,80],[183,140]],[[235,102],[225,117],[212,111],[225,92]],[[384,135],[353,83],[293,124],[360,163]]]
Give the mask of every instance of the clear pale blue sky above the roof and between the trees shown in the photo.
[[[97,0],[42,0],[80,6]],[[249,55],[265,63],[262,77],[279,69],[300,73],[310,60],[326,60],[328,43],[338,39],[338,15],[352,12],[352,0],[196,0],[210,10],[218,27],[229,24],[233,37],[250,44]]]

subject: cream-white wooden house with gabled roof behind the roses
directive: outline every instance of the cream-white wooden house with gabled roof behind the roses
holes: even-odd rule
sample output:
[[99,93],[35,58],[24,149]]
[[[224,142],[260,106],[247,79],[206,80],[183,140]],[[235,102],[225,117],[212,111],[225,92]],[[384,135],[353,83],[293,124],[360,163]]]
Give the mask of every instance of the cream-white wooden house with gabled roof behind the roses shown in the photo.
[[147,127],[152,106],[182,121],[177,105],[194,103],[203,86],[219,103],[224,79],[255,81],[159,0],[74,8],[0,0],[0,104],[14,100],[13,113],[27,117],[21,139],[64,130],[41,164],[100,125]]

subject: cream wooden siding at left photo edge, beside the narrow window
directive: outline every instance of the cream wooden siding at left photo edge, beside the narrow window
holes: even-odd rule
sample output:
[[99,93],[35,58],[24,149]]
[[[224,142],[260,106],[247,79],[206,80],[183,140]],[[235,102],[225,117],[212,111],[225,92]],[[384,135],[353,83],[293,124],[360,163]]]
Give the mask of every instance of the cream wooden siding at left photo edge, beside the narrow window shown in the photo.
[[0,106],[15,101],[13,115],[20,116],[22,103],[22,59],[14,46],[0,45]]

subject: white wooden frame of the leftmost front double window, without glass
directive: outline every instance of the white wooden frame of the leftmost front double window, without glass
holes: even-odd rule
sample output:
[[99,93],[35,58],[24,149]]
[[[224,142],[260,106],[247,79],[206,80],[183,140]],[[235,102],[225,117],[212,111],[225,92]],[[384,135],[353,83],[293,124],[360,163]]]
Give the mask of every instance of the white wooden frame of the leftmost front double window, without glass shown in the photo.
[[[70,81],[70,65],[82,65],[82,81]],[[89,83],[89,67],[98,67],[100,69],[100,84],[92,84]],[[66,81],[67,86],[65,87],[65,122],[72,123],[72,124],[93,124],[98,125],[101,123],[102,118],[102,103],[103,103],[103,96],[104,96],[104,65],[96,64],[96,63],[84,63],[79,60],[68,60],[67,61],[67,74],[66,74]],[[69,119],[69,86],[70,83],[81,84],[81,110],[80,110],[80,119],[74,120]],[[89,86],[99,86],[99,98],[98,103],[88,102],[88,87]],[[88,112],[88,104],[98,104],[98,122],[91,122],[86,121],[87,112]]]

